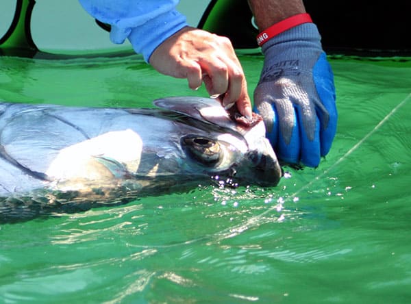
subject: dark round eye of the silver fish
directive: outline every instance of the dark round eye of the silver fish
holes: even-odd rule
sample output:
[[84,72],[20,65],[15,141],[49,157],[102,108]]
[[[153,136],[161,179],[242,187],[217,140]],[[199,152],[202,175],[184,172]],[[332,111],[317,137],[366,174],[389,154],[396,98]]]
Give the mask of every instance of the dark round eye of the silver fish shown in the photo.
[[208,166],[216,164],[222,157],[219,142],[204,136],[184,136],[182,148],[193,160]]

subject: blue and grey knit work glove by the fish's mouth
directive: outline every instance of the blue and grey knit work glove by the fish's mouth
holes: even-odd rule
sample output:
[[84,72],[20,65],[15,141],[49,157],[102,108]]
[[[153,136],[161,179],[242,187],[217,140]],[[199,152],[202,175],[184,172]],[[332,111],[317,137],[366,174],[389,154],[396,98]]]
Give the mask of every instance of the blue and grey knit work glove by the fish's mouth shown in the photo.
[[256,112],[283,164],[316,167],[336,134],[334,77],[316,25],[304,23],[262,45]]

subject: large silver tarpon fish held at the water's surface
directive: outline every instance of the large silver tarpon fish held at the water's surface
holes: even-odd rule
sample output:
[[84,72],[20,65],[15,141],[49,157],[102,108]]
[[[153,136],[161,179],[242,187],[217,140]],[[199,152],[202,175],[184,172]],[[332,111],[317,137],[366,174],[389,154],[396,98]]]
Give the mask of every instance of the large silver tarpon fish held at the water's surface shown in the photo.
[[161,109],[0,103],[0,222],[76,212],[212,181],[276,186],[264,123],[236,123],[214,99]]

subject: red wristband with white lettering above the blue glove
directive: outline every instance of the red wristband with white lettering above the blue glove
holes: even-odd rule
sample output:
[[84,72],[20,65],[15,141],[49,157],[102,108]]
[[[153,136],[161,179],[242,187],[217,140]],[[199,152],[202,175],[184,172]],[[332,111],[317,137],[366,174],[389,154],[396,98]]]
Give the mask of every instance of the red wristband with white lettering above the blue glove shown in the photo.
[[265,42],[267,42],[274,36],[277,36],[278,34],[281,34],[283,31],[286,31],[287,29],[296,27],[297,25],[301,25],[303,23],[312,23],[310,14],[303,13],[290,16],[282,21],[279,21],[278,23],[275,23],[275,25],[271,25],[271,27],[265,29],[260,34],[258,34],[257,43],[261,47],[262,45],[264,45]]

